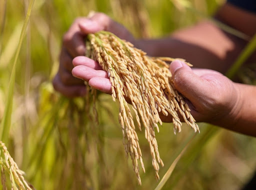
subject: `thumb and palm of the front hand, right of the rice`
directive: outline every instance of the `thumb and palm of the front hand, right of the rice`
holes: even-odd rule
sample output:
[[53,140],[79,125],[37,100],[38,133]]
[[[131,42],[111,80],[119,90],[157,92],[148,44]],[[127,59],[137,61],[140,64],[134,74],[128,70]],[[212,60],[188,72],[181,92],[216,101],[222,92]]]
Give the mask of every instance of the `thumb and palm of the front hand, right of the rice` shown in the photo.
[[191,69],[178,60],[170,64],[170,71],[175,88],[186,97],[196,121],[227,127],[225,124],[234,120],[239,107],[234,82],[215,70]]

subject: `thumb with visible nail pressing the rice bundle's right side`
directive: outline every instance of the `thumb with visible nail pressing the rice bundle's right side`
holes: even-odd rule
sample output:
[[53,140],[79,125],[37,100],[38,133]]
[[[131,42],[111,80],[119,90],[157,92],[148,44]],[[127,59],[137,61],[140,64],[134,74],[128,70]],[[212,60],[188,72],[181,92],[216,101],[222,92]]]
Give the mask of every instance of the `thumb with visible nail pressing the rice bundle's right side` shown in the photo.
[[180,60],[174,60],[169,66],[175,88],[190,101],[206,95],[206,80],[193,73],[192,69]]

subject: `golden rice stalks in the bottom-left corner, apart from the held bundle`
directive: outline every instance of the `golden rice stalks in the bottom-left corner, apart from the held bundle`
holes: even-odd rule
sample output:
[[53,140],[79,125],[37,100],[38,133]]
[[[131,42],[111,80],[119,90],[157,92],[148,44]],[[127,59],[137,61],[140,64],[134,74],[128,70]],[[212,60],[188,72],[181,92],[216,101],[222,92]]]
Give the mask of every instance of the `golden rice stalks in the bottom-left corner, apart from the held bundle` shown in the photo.
[[1,166],[1,183],[2,188],[7,189],[5,172],[9,174],[9,180],[11,189],[24,189],[32,190],[23,177],[23,171],[21,171],[16,162],[10,156],[6,146],[0,141],[0,166]]

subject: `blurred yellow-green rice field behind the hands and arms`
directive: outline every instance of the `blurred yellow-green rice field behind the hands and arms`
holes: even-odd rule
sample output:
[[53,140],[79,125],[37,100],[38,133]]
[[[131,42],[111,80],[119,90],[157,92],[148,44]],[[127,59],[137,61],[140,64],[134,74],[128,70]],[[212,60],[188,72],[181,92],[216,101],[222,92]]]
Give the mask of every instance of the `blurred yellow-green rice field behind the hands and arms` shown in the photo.
[[[0,120],[28,0],[0,0]],[[67,99],[53,90],[61,39],[73,20],[104,12],[136,37],[161,37],[210,16],[224,0],[36,0],[17,59],[10,130],[4,141],[36,189],[154,189],[149,146],[137,131],[145,170],[139,186],[125,158],[118,105],[111,96]],[[199,56],[199,55],[198,55]],[[182,58],[182,57],[181,57]],[[189,60],[188,60],[189,61]],[[242,75],[242,73],[239,73]],[[256,169],[256,138],[199,123],[196,135],[162,189],[240,189]],[[214,130],[207,135],[204,131]],[[183,124],[157,133],[160,178],[191,136]],[[204,135],[204,136],[203,136]],[[203,146],[202,146],[203,145]]]

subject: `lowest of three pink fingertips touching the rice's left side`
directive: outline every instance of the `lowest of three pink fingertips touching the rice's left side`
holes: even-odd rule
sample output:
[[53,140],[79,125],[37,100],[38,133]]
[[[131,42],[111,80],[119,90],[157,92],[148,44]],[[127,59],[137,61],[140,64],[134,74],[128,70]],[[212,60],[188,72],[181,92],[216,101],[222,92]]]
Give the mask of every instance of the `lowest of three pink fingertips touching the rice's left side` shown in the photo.
[[89,80],[89,85],[95,89],[98,89],[104,93],[111,94],[111,83],[108,78],[93,77]]

